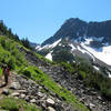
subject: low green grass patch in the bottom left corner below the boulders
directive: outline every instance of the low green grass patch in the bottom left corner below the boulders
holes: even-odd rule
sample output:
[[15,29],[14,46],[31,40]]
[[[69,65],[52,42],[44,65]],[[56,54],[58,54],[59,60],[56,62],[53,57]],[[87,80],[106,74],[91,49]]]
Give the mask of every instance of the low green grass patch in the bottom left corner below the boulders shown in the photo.
[[23,109],[23,111],[41,111],[39,108],[36,108],[34,104],[28,104],[26,101],[14,98],[3,98],[0,101],[0,111],[19,111],[19,109]]

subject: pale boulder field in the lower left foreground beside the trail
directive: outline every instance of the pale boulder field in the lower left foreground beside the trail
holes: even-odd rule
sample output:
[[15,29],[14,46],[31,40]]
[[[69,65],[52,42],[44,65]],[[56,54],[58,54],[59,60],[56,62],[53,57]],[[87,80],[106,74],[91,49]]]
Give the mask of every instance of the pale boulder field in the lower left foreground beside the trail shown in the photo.
[[[23,99],[29,103],[34,103],[37,107],[40,107],[42,111],[74,111],[73,107],[60,100],[56,93],[51,92],[46,87],[23,75],[14,73],[12,75],[12,82],[9,84],[10,87],[8,89],[2,91],[3,94]],[[49,93],[47,94],[42,90],[49,90]]]

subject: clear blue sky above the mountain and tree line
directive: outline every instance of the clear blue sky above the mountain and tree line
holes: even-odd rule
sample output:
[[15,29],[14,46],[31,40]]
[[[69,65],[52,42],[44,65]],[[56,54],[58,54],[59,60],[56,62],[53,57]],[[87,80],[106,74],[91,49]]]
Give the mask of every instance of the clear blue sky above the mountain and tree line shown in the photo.
[[0,0],[0,19],[32,42],[43,42],[69,18],[109,20],[111,0]]

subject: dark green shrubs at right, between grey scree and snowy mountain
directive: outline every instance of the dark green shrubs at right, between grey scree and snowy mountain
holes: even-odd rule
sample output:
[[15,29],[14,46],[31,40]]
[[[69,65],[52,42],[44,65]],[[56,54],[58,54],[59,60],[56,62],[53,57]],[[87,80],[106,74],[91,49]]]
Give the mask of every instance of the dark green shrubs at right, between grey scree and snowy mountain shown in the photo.
[[[64,65],[64,64],[63,64]],[[87,87],[94,88],[101,92],[108,99],[111,99],[111,79],[95,71],[91,64],[85,62],[83,59],[78,58],[75,63],[69,64],[74,72],[78,73],[78,78],[83,80]],[[70,69],[68,64],[67,69]]]

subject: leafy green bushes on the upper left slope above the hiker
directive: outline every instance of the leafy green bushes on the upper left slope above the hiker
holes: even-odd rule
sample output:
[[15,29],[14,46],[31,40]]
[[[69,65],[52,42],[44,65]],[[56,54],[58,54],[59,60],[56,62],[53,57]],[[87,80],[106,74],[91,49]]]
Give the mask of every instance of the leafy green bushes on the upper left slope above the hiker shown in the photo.
[[19,52],[16,46],[12,40],[0,37],[0,62],[8,64],[10,70],[26,63],[23,54]]

